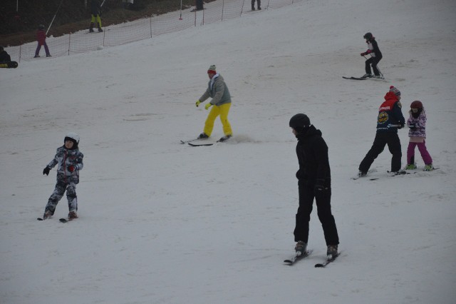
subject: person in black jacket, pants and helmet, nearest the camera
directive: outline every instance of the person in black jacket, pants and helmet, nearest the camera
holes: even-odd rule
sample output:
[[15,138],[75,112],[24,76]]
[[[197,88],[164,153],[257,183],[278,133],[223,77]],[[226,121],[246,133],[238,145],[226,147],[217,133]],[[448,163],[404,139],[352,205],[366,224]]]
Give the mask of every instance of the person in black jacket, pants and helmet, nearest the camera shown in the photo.
[[298,138],[296,154],[299,170],[296,172],[299,188],[299,208],[296,213],[294,240],[296,254],[306,252],[309,240],[309,221],[316,201],[318,219],[323,226],[328,258],[338,255],[338,233],[336,221],[331,213],[331,168],[328,161],[328,146],[321,131],[311,125],[306,114],[291,117],[290,127]]

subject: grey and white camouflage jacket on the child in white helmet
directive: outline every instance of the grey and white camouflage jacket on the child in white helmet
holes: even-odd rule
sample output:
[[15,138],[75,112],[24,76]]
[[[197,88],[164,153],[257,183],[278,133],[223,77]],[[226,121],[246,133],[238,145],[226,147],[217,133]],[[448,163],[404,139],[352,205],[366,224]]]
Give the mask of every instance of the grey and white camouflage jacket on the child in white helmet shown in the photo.
[[[56,156],[48,163],[49,168],[57,167],[57,180],[65,183],[79,183],[79,170],[82,170],[83,153],[78,149],[68,150],[65,146],[57,148]],[[74,171],[68,171],[68,166],[74,166]]]

